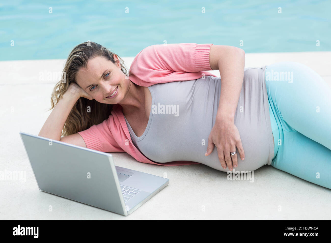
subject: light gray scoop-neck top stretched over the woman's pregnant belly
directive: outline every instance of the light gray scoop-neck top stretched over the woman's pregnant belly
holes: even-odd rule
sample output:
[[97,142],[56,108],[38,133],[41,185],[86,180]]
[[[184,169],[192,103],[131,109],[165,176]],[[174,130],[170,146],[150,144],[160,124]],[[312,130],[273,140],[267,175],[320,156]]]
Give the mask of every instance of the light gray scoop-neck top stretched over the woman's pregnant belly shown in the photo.
[[[245,160],[241,161],[236,148],[236,170],[255,170],[270,165],[274,157],[265,68],[250,67],[244,71],[234,124],[239,130]],[[194,161],[217,170],[228,170],[221,167],[216,146],[205,156],[218,110],[221,79],[206,76],[205,79],[154,84],[148,89],[152,107],[143,135],[137,137],[125,118],[132,142],[139,151],[159,163]]]

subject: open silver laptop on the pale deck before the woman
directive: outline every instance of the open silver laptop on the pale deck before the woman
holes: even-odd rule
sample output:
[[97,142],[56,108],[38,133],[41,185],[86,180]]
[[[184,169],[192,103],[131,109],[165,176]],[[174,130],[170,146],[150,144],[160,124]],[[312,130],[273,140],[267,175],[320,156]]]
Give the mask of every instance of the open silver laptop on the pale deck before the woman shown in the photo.
[[20,132],[39,190],[129,215],[169,179],[115,166],[109,153]]

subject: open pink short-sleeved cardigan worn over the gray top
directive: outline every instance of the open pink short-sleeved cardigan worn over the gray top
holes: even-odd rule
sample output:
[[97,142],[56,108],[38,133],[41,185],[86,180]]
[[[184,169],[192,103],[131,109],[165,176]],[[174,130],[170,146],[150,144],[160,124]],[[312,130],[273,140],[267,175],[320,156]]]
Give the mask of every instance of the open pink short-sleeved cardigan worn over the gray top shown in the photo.
[[[148,46],[133,59],[129,79],[137,85],[149,87],[158,83],[194,80],[201,78],[203,74],[217,77],[204,71],[212,70],[209,63],[211,45],[213,44],[180,43]],[[78,133],[89,149],[127,152],[139,162],[157,165],[199,164],[192,161],[157,163],[146,158],[132,143],[119,104],[113,106],[108,119]]]

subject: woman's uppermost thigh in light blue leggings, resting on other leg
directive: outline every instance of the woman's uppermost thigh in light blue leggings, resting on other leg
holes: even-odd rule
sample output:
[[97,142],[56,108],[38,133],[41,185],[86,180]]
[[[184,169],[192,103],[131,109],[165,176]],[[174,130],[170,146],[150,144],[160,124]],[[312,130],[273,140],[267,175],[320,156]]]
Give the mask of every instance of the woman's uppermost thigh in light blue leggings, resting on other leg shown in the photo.
[[282,61],[267,66],[265,82],[279,128],[331,149],[331,88],[322,77],[304,64]]

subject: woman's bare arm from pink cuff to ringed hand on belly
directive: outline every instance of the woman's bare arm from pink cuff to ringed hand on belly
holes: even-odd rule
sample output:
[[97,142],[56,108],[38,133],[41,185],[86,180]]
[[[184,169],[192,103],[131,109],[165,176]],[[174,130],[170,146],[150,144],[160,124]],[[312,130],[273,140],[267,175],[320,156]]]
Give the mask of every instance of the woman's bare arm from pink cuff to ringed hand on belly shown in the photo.
[[237,167],[238,160],[237,156],[231,156],[230,152],[235,152],[237,147],[241,159],[245,158],[239,131],[234,125],[234,115],[244,79],[245,52],[233,46],[212,45],[210,66],[220,72],[221,94],[216,121],[209,135],[205,155],[208,156],[216,145],[222,167],[226,169],[227,164],[232,170],[232,166]]

